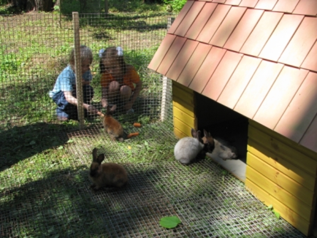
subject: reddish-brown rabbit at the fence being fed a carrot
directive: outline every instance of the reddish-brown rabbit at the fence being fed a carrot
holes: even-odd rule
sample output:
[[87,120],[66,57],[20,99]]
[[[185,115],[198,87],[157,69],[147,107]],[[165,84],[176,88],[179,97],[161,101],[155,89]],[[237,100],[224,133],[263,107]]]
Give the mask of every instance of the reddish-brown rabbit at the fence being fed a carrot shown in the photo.
[[107,106],[107,113],[103,118],[103,126],[105,128],[105,131],[107,131],[111,139],[114,141],[119,140],[122,142],[124,139],[129,139],[132,136],[139,135],[139,133],[137,132],[126,135],[120,122],[118,122],[116,119],[112,117],[112,111],[110,111],[110,106]]

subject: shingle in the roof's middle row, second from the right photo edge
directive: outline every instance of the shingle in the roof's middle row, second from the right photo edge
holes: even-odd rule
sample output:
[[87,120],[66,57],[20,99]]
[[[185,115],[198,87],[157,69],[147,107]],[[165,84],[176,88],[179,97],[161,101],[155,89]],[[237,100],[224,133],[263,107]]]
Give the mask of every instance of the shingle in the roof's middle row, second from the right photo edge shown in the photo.
[[317,18],[305,17],[278,61],[300,67],[316,39]]

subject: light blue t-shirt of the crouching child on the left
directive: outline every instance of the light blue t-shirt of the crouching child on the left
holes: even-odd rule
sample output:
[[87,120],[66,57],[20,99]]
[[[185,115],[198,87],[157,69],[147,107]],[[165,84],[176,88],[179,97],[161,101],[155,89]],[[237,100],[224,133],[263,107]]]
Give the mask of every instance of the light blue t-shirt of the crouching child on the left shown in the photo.
[[[87,70],[83,75],[82,79],[85,81],[91,81],[93,76],[91,75],[90,69]],[[60,75],[57,77],[56,83],[52,91],[49,91],[49,96],[53,97],[55,93],[60,91],[73,91],[76,85],[76,76],[73,69],[68,65]]]

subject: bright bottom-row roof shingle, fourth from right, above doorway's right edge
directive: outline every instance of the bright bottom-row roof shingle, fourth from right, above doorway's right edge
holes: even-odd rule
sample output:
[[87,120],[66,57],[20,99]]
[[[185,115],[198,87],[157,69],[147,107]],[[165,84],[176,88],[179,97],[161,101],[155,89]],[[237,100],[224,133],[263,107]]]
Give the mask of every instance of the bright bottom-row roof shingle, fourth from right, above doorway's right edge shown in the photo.
[[234,110],[253,118],[283,68],[283,64],[262,60]]

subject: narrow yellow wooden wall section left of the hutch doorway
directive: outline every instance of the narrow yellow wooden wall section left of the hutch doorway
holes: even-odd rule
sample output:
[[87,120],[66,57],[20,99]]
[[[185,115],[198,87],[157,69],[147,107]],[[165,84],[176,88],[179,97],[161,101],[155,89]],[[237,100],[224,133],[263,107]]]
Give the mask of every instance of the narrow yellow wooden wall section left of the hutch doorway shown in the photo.
[[191,136],[191,128],[197,129],[194,113],[194,91],[182,84],[173,82],[173,123],[178,138]]

